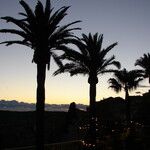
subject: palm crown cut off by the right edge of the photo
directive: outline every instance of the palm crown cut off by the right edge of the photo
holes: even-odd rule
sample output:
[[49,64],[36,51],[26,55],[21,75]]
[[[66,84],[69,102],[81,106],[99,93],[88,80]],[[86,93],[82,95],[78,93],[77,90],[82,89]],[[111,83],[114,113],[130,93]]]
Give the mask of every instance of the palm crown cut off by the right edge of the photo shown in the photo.
[[149,79],[150,84],[150,54],[144,54],[143,57],[140,57],[136,60],[135,66],[140,66],[144,73],[144,78]]

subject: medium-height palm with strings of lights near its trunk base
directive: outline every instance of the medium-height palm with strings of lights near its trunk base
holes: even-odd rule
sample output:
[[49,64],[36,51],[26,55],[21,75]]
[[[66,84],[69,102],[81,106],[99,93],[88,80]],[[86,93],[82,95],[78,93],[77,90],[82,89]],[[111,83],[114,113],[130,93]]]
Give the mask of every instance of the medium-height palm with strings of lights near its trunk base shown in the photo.
[[120,63],[115,61],[115,56],[107,58],[108,52],[114,48],[117,43],[113,43],[105,49],[102,49],[103,35],[98,33],[92,35],[82,34],[81,39],[74,39],[72,43],[78,48],[78,51],[69,46],[60,46],[65,53],[60,56],[60,59],[68,60],[69,62],[58,64],[59,69],[54,75],[69,72],[71,76],[77,74],[87,74],[88,83],[90,84],[90,136],[93,144],[96,142],[95,130],[95,102],[96,102],[96,84],[98,83],[98,75],[107,72],[112,72],[109,66],[120,68]]

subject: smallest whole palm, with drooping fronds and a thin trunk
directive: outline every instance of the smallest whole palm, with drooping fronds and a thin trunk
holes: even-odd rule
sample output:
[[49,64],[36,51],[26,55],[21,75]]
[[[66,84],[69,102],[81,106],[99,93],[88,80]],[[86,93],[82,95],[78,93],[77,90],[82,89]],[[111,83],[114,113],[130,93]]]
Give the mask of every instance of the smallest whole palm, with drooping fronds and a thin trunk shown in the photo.
[[131,120],[129,91],[135,90],[142,80],[141,70],[127,71],[125,68],[115,71],[114,78],[108,80],[109,87],[115,90],[115,92],[125,91],[127,123]]

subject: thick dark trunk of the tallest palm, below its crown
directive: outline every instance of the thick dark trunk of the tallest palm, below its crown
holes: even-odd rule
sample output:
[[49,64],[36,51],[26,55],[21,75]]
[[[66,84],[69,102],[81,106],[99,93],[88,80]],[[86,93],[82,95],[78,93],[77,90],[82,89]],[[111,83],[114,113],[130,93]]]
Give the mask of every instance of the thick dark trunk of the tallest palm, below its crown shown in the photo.
[[46,64],[37,64],[36,95],[36,150],[44,150],[44,107],[45,107]]

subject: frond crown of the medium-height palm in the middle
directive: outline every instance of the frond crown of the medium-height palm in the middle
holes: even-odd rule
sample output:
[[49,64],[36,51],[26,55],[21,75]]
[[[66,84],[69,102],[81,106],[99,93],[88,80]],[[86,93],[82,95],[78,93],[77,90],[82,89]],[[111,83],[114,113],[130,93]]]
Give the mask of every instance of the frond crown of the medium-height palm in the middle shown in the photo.
[[60,56],[60,59],[67,59],[70,61],[65,65],[61,65],[60,68],[54,73],[59,74],[63,72],[70,72],[71,75],[76,74],[89,74],[90,72],[96,72],[96,74],[105,73],[111,71],[107,69],[108,66],[114,65],[117,68],[120,67],[120,63],[115,61],[115,56],[106,58],[107,53],[117,45],[113,43],[106,49],[102,49],[103,35],[98,33],[92,36],[82,34],[81,39],[74,39],[72,41],[78,48],[78,51],[71,49],[68,46],[59,47],[65,53]]

